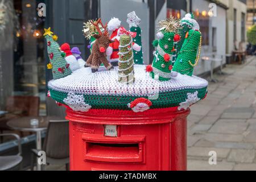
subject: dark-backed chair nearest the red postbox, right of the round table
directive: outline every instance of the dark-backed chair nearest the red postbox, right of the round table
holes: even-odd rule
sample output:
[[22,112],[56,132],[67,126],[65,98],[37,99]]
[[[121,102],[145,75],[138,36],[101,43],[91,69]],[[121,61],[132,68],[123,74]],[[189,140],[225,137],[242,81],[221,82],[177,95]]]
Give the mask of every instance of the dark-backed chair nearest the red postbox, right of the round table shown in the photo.
[[[69,126],[67,120],[49,121],[43,151],[46,152],[46,164],[65,164],[69,170]],[[31,171],[34,170],[38,150],[32,149]],[[42,166],[44,170],[44,166]]]

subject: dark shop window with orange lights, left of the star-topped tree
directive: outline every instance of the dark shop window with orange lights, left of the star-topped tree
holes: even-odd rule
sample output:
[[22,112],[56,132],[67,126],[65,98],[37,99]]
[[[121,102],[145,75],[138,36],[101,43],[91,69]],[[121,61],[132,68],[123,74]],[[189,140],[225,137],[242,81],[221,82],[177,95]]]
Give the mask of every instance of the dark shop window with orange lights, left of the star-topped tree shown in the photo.
[[14,49],[15,96],[40,97],[41,114],[46,113],[46,67],[43,28],[45,17],[39,17],[36,7],[44,1],[15,0],[20,28],[16,31]]

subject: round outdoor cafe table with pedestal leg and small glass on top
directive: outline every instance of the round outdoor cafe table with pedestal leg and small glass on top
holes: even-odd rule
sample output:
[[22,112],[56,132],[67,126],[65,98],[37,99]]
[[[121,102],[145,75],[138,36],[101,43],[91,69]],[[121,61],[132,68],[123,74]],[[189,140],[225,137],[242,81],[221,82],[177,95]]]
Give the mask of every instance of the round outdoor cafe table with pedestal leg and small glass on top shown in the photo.
[[[39,125],[37,127],[30,125],[31,119],[38,119]],[[7,125],[14,130],[34,132],[36,133],[36,149],[42,150],[42,131],[47,130],[49,120],[57,120],[57,117],[21,117],[11,119],[7,122]],[[37,163],[37,169],[40,171],[41,166]]]

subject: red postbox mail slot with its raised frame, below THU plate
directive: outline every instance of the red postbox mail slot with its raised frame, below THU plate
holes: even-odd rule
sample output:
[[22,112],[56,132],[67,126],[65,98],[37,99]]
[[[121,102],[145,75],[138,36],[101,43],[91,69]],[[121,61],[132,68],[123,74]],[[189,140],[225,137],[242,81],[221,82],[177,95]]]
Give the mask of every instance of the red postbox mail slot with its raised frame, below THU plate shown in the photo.
[[96,162],[143,163],[145,143],[143,136],[117,138],[84,134],[84,159]]

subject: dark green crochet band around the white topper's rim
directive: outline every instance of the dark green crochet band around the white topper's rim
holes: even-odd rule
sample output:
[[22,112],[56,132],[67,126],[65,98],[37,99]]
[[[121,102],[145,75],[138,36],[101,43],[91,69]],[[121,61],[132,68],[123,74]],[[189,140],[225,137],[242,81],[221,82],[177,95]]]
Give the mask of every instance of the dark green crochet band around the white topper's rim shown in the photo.
[[[67,92],[59,92],[53,89],[49,89],[53,100],[65,103],[63,100],[68,97]],[[150,100],[152,102],[151,109],[167,108],[179,106],[181,102],[186,101],[188,93],[198,92],[197,97],[202,100],[207,94],[207,87],[204,88],[186,88],[172,90],[171,92],[159,93],[159,97],[156,100]],[[82,94],[78,94],[82,95]],[[106,95],[106,94],[83,94],[84,102],[92,106],[92,109],[119,109],[119,110],[130,110],[127,104],[134,101],[137,98],[148,98],[148,96],[125,96],[125,95]]]

